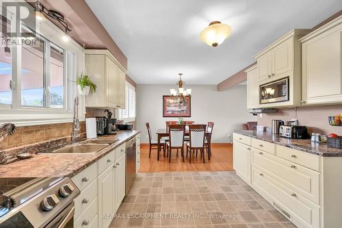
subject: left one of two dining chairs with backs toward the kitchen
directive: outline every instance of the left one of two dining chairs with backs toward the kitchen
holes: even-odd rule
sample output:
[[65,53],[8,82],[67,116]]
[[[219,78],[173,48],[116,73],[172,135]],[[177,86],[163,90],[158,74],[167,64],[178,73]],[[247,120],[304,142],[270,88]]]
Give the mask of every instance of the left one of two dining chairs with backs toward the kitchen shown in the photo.
[[167,155],[169,156],[169,162],[171,162],[172,149],[181,149],[181,155],[184,162],[184,132],[185,125],[168,125],[168,133],[170,140],[166,142]]

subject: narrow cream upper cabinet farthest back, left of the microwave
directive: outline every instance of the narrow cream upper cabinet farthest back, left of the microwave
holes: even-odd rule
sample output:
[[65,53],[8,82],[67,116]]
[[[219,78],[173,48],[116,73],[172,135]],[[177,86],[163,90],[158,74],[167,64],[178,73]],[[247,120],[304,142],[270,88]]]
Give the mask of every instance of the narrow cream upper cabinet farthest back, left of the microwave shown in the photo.
[[247,108],[252,109],[259,107],[259,78],[257,65],[248,68],[245,72],[247,74]]

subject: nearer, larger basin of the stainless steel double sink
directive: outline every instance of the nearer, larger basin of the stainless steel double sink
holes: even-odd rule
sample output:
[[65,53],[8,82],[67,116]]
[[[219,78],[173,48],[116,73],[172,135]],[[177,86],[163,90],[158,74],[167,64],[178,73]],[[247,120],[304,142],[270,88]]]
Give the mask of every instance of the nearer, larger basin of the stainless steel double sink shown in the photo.
[[96,153],[101,151],[101,149],[108,147],[109,144],[72,144],[70,146],[62,147],[51,151],[51,153]]

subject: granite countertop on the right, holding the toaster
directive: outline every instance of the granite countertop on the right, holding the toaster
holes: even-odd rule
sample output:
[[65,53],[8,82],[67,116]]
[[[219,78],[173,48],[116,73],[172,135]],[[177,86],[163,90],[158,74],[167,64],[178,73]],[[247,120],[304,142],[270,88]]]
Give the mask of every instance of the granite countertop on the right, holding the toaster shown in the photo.
[[306,153],[312,153],[323,157],[342,157],[342,149],[328,147],[326,143],[311,142],[310,139],[284,138],[265,131],[234,131],[237,134],[250,136],[266,142],[273,142],[284,147],[297,149]]

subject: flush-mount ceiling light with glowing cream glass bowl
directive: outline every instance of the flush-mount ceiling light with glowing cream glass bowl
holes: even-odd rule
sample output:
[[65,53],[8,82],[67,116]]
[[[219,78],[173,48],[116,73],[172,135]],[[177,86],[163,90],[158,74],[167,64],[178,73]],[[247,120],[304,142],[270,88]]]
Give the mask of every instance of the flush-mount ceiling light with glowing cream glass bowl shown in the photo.
[[213,21],[200,33],[200,40],[211,47],[221,45],[231,35],[231,26],[222,24],[220,21]]

